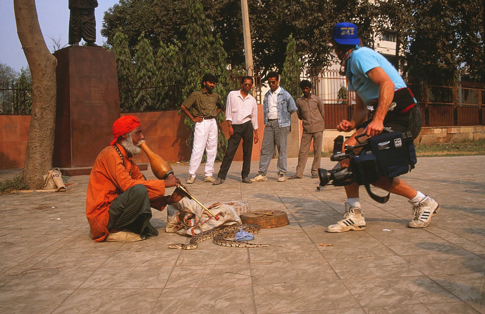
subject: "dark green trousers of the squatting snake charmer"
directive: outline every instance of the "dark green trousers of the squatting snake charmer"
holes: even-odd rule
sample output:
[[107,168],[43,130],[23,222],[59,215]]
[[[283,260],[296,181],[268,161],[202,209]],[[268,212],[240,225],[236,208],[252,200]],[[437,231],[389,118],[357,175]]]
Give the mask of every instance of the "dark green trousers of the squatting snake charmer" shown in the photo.
[[127,229],[140,235],[158,235],[157,229],[150,223],[150,199],[143,184],[134,185],[115,198],[109,213],[109,231],[116,228]]

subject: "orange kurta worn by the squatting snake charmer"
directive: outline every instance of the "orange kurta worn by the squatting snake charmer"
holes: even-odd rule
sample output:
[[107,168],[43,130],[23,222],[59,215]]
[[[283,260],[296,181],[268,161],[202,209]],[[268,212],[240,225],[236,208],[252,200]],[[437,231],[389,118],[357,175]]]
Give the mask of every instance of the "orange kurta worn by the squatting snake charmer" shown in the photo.
[[[86,217],[91,227],[91,237],[96,242],[108,236],[109,209],[113,200],[136,184],[143,184],[148,190],[150,206],[163,210],[165,207],[165,182],[145,180],[138,166],[127,156],[125,149],[118,144],[125,165],[113,146],[103,149],[94,162],[89,177],[86,195]],[[131,174],[130,174],[131,171]]]

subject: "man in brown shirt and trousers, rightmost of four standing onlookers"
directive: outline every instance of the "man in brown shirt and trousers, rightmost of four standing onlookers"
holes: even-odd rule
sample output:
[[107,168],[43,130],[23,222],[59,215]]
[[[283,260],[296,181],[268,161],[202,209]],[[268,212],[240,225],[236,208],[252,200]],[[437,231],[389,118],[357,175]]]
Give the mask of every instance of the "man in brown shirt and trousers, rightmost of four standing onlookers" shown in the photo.
[[303,121],[303,134],[300,142],[300,152],[298,153],[298,165],[296,173],[288,180],[303,178],[303,170],[307,165],[308,151],[310,150],[311,140],[313,139],[313,164],[311,165],[311,177],[318,178],[318,168],[322,157],[322,140],[325,122],[323,120],[323,101],[320,97],[311,94],[311,82],[303,80],[300,82],[303,96],[296,99],[296,114]]

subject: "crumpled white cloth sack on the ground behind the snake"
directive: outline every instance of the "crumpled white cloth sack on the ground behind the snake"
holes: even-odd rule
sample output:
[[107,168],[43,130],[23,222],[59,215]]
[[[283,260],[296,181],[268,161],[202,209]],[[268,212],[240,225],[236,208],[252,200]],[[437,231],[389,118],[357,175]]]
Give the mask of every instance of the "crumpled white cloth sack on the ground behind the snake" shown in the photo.
[[167,206],[167,226],[165,231],[194,236],[218,226],[241,224],[241,218],[239,218],[232,206],[221,202],[204,205],[214,215],[217,215],[219,220],[207,214],[202,206],[193,199],[182,198],[178,203]]

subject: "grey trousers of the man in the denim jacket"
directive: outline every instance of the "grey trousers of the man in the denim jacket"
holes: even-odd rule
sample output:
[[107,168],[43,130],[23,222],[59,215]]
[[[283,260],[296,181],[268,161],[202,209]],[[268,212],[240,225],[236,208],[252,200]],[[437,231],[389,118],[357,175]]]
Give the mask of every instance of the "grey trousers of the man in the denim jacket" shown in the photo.
[[288,133],[290,127],[280,128],[278,119],[268,120],[263,133],[263,142],[261,143],[261,153],[259,155],[259,174],[266,175],[271,158],[278,149],[278,162],[276,167],[278,171],[286,173],[288,163],[286,159],[286,149],[288,146]]

